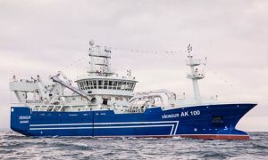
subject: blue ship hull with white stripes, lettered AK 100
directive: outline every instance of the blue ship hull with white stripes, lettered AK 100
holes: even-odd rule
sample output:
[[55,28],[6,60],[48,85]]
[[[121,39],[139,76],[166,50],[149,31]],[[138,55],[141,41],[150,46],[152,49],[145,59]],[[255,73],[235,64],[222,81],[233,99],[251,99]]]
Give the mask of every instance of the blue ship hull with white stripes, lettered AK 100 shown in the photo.
[[236,124],[256,104],[219,104],[188,108],[147,108],[144,113],[113,110],[83,112],[31,111],[12,107],[11,128],[26,136],[189,137],[247,140]]

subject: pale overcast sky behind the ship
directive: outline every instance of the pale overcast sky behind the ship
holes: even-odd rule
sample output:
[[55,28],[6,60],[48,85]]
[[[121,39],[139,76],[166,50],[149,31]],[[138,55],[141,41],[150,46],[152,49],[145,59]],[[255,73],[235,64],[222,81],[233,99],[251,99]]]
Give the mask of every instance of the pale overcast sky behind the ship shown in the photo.
[[75,80],[87,71],[90,39],[124,49],[113,51],[113,68],[132,69],[136,91],[165,88],[188,96],[186,55],[130,49],[178,51],[192,44],[208,60],[202,96],[258,102],[237,128],[268,131],[266,0],[0,0],[0,128],[9,127],[13,75],[46,78],[63,70]]

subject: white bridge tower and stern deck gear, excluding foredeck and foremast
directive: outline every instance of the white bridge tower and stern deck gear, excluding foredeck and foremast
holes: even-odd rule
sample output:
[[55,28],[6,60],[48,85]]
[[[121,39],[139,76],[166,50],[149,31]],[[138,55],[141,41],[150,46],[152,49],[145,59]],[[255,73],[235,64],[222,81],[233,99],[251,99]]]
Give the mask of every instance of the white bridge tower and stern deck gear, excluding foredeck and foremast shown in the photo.
[[[128,70],[127,76],[118,76],[111,69],[111,51],[89,42],[88,75],[80,76],[74,87],[63,72],[50,76],[51,84],[44,84],[40,76],[17,80],[13,76],[10,89],[23,105],[34,110],[83,111],[130,107],[137,83]],[[68,89],[70,95],[65,95]],[[126,109],[120,109],[121,111]]]

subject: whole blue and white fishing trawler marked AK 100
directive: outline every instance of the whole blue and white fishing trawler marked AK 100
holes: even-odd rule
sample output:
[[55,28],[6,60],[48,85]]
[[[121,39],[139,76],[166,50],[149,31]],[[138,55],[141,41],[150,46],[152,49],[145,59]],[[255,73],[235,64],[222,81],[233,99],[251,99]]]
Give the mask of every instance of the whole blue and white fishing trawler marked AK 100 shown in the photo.
[[186,99],[167,90],[134,92],[138,81],[128,71],[118,76],[110,65],[112,52],[89,42],[90,68],[72,85],[58,72],[49,77],[17,79],[10,90],[18,102],[11,107],[11,129],[26,136],[185,137],[213,140],[248,140],[247,132],[236,129],[239,119],[255,103],[202,99],[197,81],[201,60],[188,46],[194,98]]

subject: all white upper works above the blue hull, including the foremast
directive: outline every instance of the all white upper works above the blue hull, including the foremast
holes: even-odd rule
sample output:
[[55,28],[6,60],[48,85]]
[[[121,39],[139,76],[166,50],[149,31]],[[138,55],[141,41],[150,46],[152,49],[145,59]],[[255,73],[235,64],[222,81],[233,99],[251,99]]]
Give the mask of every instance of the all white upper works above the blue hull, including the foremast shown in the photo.
[[[30,80],[18,80],[13,76],[10,89],[23,106],[37,111],[86,111],[113,109],[115,113],[143,112],[145,108],[162,107],[180,108],[202,102],[211,103],[214,100],[202,100],[197,80],[204,78],[197,66],[201,60],[196,60],[188,46],[187,65],[191,69],[188,78],[193,82],[194,100],[186,100],[185,95],[177,97],[175,93],[166,90],[134,93],[138,83],[128,70],[126,76],[118,76],[111,68],[111,51],[94,41],[89,42],[88,74],[80,76],[71,84],[63,72],[50,76],[50,84],[44,84],[40,76]],[[71,94],[65,94],[65,90]]]

